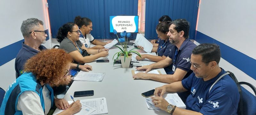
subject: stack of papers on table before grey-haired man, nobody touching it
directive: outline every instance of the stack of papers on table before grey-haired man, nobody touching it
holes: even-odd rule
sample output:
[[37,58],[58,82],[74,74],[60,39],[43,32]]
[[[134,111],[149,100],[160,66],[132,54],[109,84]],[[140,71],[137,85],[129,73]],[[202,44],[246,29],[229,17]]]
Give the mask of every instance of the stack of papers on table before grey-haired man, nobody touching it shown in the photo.
[[93,82],[101,82],[105,76],[105,72],[93,73],[93,72],[85,72],[80,71],[77,75],[72,77],[75,81],[93,81]]

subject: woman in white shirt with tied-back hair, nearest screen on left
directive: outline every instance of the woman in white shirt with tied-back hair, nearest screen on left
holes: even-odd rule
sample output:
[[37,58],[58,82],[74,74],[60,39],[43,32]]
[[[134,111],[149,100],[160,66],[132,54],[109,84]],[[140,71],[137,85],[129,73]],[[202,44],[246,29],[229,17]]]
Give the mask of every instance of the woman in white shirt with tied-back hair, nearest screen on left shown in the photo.
[[[84,44],[85,47],[90,49],[103,49],[103,46],[111,42],[101,42],[93,38],[93,36],[90,34],[92,31],[92,21],[89,18],[81,18],[80,16],[76,16],[75,24],[78,25],[81,31],[79,40]],[[96,46],[90,47],[90,43]]]

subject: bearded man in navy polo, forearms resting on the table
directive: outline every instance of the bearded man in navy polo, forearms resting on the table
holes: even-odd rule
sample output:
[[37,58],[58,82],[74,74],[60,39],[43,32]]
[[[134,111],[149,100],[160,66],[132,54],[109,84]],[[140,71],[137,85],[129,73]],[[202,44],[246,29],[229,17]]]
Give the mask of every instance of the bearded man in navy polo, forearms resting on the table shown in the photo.
[[190,70],[191,64],[189,63],[189,59],[191,57],[192,50],[196,47],[196,45],[188,39],[188,34],[189,23],[187,20],[173,20],[169,24],[169,32],[167,36],[169,37],[169,41],[175,46],[172,47],[168,57],[166,57],[164,60],[150,64],[148,66],[136,68],[138,70],[146,69],[147,73],[152,68],[164,68],[173,64],[172,71],[174,72],[174,74],[158,75],[138,73],[133,75],[133,77],[141,79],[152,79],[163,83],[173,83],[187,78],[192,73],[192,71]]

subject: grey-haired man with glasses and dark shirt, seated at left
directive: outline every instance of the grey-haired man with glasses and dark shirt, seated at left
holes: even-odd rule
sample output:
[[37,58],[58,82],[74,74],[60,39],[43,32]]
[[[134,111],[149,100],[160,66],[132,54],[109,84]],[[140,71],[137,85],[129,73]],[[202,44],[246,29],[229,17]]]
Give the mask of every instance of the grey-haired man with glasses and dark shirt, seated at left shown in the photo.
[[[25,42],[22,43],[22,48],[20,49],[15,59],[15,71],[17,74],[16,78],[24,73],[23,66],[28,59],[36,55],[38,52],[46,49],[46,47],[41,45],[46,42],[47,37],[43,25],[43,21],[36,18],[28,18],[27,20],[23,21],[20,27],[20,31],[24,37]],[[89,71],[92,69],[92,66],[77,65],[72,63],[70,68]]]

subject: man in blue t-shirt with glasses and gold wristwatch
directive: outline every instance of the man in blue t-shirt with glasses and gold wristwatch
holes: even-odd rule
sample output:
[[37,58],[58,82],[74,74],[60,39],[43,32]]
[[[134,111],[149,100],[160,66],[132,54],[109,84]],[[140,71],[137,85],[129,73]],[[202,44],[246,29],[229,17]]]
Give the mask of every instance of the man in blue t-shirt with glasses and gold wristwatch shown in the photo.
[[[194,73],[182,81],[156,88],[156,97],[152,97],[155,106],[172,115],[237,115],[240,95],[229,73],[219,67],[220,47],[201,44],[193,50],[189,62]],[[166,91],[190,91],[186,109],[169,104],[163,98]]]

